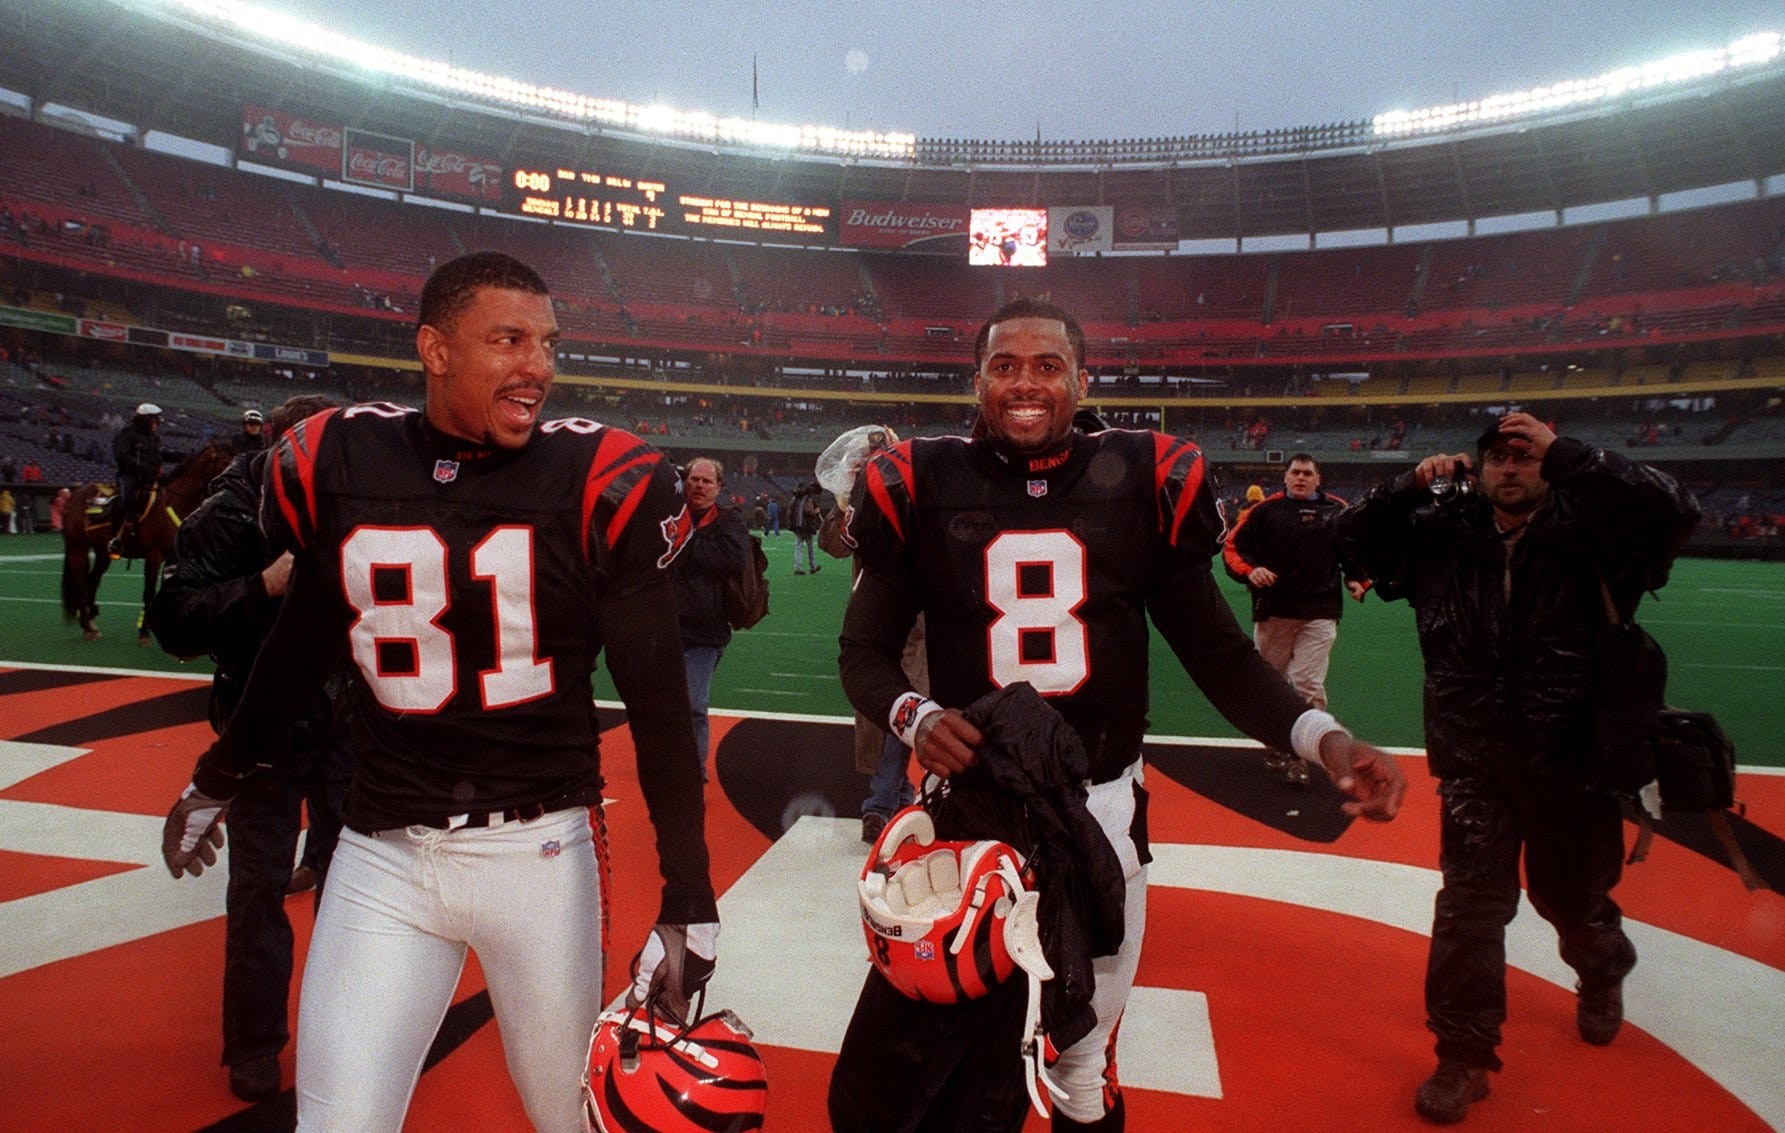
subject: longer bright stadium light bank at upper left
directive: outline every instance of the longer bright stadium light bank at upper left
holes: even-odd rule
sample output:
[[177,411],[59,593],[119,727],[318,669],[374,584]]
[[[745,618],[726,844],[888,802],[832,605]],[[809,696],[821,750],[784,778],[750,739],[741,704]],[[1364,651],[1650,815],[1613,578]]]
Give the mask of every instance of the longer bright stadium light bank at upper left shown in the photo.
[[669,134],[718,145],[839,153],[846,157],[910,159],[917,152],[917,137],[914,134],[794,127],[748,118],[719,118],[703,111],[639,105],[618,98],[591,98],[575,91],[486,75],[434,59],[419,59],[403,52],[373,46],[332,32],[318,23],[250,4],[237,4],[236,0],[137,0],[130,7],[186,14],[209,25],[221,25],[234,34],[271,41],[286,50],[321,55],[362,71],[469,95],[498,105],[536,112],[543,111],[571,121],[602,123],[619,130]]

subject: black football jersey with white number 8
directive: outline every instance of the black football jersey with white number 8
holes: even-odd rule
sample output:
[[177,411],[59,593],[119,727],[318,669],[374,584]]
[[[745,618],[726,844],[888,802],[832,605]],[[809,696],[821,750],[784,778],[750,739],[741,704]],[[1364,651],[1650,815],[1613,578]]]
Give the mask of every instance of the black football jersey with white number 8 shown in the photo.
[[932,699],[964,708],[1028,682],[1103,778],[1146,733],[1148,603],[1169,576],[1207,576],[1221,546],[1205,475],[1196,444],[1155,432],[1075,432],[1044,460],[916,439],[868,464],[848,532],[925,612]]

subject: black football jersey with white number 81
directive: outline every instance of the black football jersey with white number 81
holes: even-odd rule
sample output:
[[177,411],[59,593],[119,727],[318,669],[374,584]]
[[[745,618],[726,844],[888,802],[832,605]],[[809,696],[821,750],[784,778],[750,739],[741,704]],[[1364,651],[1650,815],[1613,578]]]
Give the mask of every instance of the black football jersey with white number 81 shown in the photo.
[[660,578],[689,533],[660,453],[575,418],[471,450],[355,405],[282,439],[261,509],[346,626],[355,828],[600,798],[596,600]]

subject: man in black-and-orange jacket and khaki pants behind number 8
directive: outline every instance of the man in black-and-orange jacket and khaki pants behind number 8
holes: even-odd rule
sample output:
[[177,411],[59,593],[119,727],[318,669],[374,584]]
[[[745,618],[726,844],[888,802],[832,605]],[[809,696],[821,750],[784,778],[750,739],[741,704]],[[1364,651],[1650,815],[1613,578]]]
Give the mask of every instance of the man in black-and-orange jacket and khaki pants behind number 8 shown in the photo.
[[[1344,507],[1344,500],[1321,491],[1314,457],[1296,453],[1283,469],[1283,491],[1241,512],[1221,555],[1228,575],[1251,591],[1258,655],[1316,708],[1326,707],[1326,664],[1344,594],[1364,601],[1369,591],[1364,573],[1339,560],[1333,521]],[[1308,765],[1298,757],[1267,751],[1266,765],[1291,783],[1308,782]]]

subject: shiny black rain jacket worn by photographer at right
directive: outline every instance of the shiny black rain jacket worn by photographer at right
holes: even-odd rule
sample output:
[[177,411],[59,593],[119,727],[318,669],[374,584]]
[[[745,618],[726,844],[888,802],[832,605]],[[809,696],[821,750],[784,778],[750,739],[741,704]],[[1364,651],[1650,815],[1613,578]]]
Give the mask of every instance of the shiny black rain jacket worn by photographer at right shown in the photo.
[[1667,582],[1698,523],[1698,503],[1671,476],[1582,441],[1551,442],[1542,476],[1549,496],[1510,564],[1482,492],[1437,505],[1412,473],[1339,519],[1342,553],[1378,594],[1414,607],[1426,753],[1439,778],[1578,782],[1606,624],[1599,578],[1628,621],[1642,592]]

